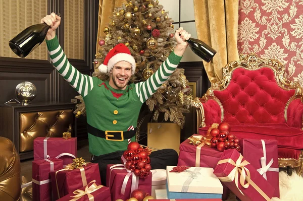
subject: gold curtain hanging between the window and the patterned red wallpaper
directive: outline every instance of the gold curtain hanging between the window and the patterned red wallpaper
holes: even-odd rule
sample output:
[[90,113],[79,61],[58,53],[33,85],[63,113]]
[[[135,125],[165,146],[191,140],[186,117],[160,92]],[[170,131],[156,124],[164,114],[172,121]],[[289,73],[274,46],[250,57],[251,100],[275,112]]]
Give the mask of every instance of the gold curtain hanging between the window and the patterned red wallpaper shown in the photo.
[[222,67],[239,59],[237,50],[238,0],[193,0],[198,39],[211,45],[217,54],[203,61],[211,83],[222,79]]

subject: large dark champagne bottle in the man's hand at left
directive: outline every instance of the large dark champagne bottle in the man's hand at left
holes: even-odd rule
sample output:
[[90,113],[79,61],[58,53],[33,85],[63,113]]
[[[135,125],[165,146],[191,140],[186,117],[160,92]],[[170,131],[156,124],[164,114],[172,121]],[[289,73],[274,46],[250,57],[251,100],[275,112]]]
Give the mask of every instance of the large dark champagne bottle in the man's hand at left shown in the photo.
[[[60,16],[60,14],[57,14]],[[51,26],[46,23],[36,24],[27,27],[12,40],[10,40],[10,48],[20,57],[26,57],[36,47],[38,47],[45,39],[46,33]]]

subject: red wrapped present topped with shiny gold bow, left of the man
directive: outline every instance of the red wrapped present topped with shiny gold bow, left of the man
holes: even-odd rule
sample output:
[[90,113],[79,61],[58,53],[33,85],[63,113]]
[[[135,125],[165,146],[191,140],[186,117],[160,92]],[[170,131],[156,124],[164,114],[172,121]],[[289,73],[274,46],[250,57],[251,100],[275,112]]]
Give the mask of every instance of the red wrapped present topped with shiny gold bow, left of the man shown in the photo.
[[96,180],[101,183],[99,166],[97,163],[85,163],[82,158],[73,160],[64,169],[51,172],[52,191],[55,198],[72,193],[88,182]]

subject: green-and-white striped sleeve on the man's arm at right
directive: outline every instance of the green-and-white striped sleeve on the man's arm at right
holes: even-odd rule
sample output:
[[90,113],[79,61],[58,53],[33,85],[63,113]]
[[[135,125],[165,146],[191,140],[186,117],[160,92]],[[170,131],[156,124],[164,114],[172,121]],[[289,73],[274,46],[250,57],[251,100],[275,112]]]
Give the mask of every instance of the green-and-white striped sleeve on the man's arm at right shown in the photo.
[[177,68],[181,56],[172,52],[168,58],[161,64],[160,68],[150,76],[146,81],[135,84],[136,93],[140,101],[145,102],[157,89],[169,78]]

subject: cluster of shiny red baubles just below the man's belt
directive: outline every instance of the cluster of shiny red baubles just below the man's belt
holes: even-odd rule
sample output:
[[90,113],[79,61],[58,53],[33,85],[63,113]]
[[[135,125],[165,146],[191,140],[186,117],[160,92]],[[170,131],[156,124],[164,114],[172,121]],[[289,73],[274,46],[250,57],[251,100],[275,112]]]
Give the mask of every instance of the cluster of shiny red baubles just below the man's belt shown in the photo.
[[123,153],[126,159],[125,168],[134,172],[140,178],[146,178],[150,174],[151,166],[149,152],[138,143],[131,142]]

